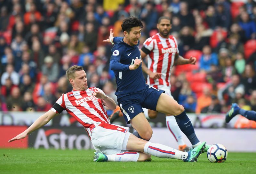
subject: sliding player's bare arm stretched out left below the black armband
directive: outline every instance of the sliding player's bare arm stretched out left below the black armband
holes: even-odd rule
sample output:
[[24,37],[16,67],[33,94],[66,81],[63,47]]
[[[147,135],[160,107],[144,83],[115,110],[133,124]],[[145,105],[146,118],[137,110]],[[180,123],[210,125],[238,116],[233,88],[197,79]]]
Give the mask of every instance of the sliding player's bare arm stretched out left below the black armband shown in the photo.
[[25,138],[28,134],[33,132],[34,130],[38,129],[39,127],[42,127],[46,125],[57,113],[53,112],[52,110],[47,111],[43,115],[41,115],[36,121],[28,127],[24,132],[20,133],[19,135],[15,136],[8,142],[12,142],[15,140],[20,140],[22,138]]

